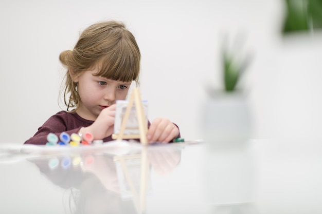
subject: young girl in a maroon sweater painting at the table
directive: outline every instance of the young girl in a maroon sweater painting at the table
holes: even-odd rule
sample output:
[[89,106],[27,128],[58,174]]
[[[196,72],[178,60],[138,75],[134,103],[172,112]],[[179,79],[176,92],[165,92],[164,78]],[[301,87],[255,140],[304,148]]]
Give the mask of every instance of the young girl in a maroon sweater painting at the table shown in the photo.
[[[96,23],[85,29],[74,49],[63,51],[59,60],[67,69],[67,111],[52,115],[25,144],[46,144],[50,132],[58,136],[61,132],[89,132],[94,140],[111,141],[115,102],[126,99],[132,81],[139,83],[140,50],[134,36],[122,23]],[[178,137],[178,127],[168,119],[149,123],[149,142],[166,143]]]

